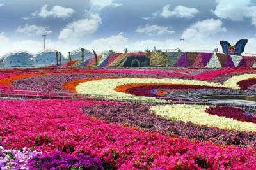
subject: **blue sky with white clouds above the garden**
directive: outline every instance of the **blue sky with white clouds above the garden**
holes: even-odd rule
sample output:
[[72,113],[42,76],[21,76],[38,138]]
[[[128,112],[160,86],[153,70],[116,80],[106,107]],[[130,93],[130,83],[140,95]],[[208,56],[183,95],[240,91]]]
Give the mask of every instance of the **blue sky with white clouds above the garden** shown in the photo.
[[[206,3],[207,2],[207,3]],[[0,0],[0,55],[52,48],[221,51],[246,38],[256,54],[256,0]]]

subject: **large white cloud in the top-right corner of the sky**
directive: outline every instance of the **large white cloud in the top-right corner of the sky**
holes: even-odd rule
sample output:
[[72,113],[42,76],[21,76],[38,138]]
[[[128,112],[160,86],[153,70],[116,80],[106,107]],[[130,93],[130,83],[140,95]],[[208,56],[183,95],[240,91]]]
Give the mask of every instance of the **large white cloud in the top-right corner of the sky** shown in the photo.
[[216,0],[216,3],[216,9],[211,11],[217,17],[234,21],[242,21],[247,17],[256,27],[256,6],[252,6],[250,0]]

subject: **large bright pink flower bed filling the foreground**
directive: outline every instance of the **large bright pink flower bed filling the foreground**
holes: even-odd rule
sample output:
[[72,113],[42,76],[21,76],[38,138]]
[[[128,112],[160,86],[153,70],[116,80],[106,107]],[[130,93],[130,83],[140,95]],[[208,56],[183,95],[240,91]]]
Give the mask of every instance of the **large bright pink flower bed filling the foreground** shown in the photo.
[[98,157],[119,169],[253,169],[251,148],[216,146],[108,124],[81,108],[94,101],[1,100],[0,136],[6,148],[29,147]]

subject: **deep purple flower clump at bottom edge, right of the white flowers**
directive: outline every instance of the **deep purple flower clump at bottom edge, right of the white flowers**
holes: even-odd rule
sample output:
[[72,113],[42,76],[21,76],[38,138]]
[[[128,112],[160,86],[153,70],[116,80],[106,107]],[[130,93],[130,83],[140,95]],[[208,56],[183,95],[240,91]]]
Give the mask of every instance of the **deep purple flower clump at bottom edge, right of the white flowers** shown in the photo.
[[29,169],[104,169],[102,160],[79,153],[77,156],[57,151],[53,155],[35,155],[28,160]]

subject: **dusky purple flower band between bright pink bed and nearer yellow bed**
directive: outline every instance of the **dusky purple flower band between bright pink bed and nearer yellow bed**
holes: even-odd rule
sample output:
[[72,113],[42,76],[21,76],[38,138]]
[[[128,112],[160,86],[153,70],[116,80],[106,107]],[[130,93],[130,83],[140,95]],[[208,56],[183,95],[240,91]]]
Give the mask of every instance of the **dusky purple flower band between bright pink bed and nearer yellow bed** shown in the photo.
[[154,114],[146,104],[95,104],[85,106],[84,113],[113,124],[125,124],[145,131],[159,132],[179,138],[212,141],[221,145],[256,148],[256,132],[236,131],[168,120]]

